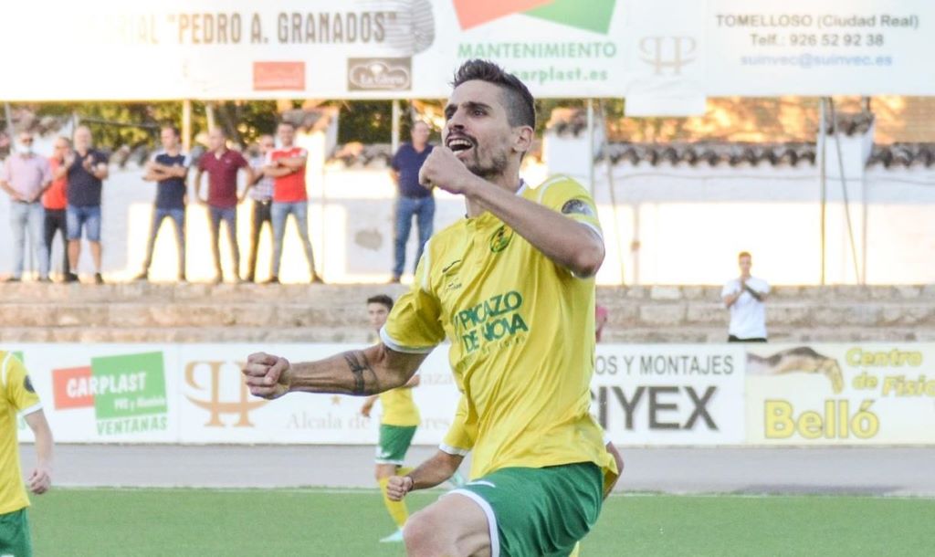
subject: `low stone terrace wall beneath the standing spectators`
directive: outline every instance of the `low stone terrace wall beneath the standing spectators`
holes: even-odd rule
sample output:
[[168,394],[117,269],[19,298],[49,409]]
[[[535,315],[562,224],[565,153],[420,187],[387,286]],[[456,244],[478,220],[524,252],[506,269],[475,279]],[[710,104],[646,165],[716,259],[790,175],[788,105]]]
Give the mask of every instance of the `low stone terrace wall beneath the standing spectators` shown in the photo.
[[[371,339],[364,300],[405,286],[0,284],[0,342],[352,342]],[[720,289],[597,290],[608,342],[723,342]],[[770,339],[935,340],[935,286],[777,287]]]

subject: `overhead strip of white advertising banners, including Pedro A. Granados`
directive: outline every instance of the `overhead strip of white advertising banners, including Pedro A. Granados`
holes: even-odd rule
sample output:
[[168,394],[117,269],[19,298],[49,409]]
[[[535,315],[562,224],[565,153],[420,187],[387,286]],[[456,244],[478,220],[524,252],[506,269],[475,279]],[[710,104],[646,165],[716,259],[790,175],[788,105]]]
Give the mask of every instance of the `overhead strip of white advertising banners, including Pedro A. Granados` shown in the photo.
[[646,114],[712,95],[935,94],[927,0],[93,0],[4,16],[0,47],[32,45],[0,64],[11,101],[444,98],[472,58],[539,97],[633,96]]

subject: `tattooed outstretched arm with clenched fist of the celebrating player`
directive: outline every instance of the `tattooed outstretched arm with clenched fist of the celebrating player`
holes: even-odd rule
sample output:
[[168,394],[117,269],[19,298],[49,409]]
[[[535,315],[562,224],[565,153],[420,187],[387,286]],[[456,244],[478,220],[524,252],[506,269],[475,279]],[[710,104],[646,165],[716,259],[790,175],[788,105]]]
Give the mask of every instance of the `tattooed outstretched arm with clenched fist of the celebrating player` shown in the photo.
[[427,355],[378,344],[317,362],[290,364],[280,356],[259,352],[247,359],[243,374],[250,392],[268,399],[292,392],[367,395],[405,385]]

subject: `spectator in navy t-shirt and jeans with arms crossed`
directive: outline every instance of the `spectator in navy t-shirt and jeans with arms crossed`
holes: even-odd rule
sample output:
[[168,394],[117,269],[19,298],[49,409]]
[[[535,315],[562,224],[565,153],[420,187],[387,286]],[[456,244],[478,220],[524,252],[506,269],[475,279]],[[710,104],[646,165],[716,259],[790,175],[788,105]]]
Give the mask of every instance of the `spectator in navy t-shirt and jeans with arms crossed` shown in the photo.
[[181,152],[179,144],[179,129],[175,126],[163,126],[159,139],[163,150],[152,155],[146,164],[144,180],[156,182],[156,204],[152,210],[152,225],[150,228],[150,242],[146,247],[146,261],[143,263],[143,272],[137,275],[136,280],[150,278],[152,264],[152,250],[156,245],[156,236],[165,219],[175,221],[176,243],[179,252],[179,281],[185,281],[185,202],[188,194],[185,187],[185,177],[191,160],[188,155]]

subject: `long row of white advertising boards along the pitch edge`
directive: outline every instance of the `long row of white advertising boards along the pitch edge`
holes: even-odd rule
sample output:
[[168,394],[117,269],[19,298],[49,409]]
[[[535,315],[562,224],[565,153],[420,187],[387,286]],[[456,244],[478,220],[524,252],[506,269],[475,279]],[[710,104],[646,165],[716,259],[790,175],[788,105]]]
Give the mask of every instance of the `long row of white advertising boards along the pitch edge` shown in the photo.
[[[293,362],[347,344],[14,345],[63,443],[349,444],[377,440],[361,397],[253,397],[252,352]],[[414,443],[437,445],[459,393],[440,346],[420,370]],[[636,446],[935,444],[935,344],[598,345],[592,415]],[[20,437],[32,440],[20,421]]]

